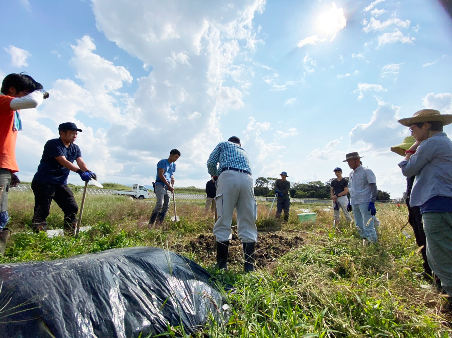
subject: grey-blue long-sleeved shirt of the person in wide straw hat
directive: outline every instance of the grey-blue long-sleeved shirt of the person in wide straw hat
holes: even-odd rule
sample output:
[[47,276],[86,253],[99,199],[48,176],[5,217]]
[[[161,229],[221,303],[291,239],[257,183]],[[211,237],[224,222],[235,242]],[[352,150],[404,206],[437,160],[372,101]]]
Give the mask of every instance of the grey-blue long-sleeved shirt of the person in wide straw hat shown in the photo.
[[399,167],[404,176],[416,175],[410,206],[421,206],[434,196],[452,197],[452,141],[445,132],[422,141]]

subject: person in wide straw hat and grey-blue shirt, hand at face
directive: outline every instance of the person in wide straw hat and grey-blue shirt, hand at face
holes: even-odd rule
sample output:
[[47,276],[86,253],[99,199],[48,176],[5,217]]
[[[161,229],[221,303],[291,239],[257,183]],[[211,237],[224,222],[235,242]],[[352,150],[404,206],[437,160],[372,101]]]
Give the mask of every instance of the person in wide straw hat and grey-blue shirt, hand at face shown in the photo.
[[415,176],[410,206],[419,206],[428,264],[452,297],[452,141],[443,132],[452,115],[423,109],[398,122],[409,127],[416,140],[399,163],[404,176]]

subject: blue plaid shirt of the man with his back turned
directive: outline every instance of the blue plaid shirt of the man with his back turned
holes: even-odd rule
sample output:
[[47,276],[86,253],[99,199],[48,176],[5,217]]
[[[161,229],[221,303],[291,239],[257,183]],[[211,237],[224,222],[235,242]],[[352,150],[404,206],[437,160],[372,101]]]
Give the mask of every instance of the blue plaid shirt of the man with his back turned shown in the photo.
[[[217,169],[218,162],[220,164]],[[251,173],[248,153],[237,143],[230,141],[218,143],[207,160],[207,171],[212,176],[217,176],[221,173],[221,170],[227,167],[242,169]]]

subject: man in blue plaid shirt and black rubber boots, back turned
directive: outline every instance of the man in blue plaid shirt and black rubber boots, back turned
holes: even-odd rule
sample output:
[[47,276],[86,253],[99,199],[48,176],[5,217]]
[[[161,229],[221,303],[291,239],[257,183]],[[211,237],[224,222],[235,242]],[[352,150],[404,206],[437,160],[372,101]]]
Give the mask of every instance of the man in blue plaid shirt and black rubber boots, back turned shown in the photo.
[[235,208],[237,235],[243,246],[244,269],[246,272],[253,271],[254,246],[257,242],[257,204],[250,158],[241,147],[240,139],[233,136],[227,142],[219,143],[207,160],[207,170],[212,176],[218,176],[215,196],[218,219],[213,227],[213,234],[217,238],[217,268],[227,269],[229,241],[232,238],[231,222]]

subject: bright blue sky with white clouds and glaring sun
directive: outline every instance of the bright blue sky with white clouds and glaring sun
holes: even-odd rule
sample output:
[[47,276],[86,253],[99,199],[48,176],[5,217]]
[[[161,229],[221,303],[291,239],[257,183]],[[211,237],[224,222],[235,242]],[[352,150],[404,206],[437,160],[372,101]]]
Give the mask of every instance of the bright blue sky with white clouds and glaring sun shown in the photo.
[[[218,142],[239,136],[253,177],[327,181],[359,151],[379,189],[401,196],[396,120],[452,114],[451,19],[436,1],[10,1],[0,77],[26,71],[50,92],[22,112],[19,178],[57,126],[100,182],[151,185],[182,156],[176,186],[204,187]],[[452,135],[452,127],[445,127]],[[70,183],[80,183],[71,174]]]

